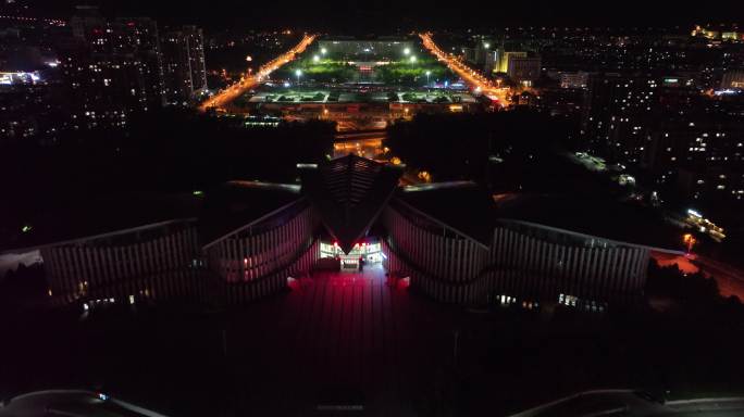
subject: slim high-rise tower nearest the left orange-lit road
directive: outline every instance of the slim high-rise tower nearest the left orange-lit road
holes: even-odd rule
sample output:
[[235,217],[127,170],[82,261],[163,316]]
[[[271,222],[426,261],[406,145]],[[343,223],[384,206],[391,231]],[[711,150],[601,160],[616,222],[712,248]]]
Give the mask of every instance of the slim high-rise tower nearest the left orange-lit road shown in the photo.
[[162,38],[165,102],[184,104],[207,88],[204,42],[201,29],[184,26]]

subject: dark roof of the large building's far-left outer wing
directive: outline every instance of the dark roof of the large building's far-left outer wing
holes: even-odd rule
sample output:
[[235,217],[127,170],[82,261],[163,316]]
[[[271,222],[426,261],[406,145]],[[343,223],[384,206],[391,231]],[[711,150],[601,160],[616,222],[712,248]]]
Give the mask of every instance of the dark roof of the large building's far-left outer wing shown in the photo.
[[120,193],[75,200],[33,218],[15,236],[0,242],[0,252],[89,239],[169,220],[196,218],[202,199],[195,193]]

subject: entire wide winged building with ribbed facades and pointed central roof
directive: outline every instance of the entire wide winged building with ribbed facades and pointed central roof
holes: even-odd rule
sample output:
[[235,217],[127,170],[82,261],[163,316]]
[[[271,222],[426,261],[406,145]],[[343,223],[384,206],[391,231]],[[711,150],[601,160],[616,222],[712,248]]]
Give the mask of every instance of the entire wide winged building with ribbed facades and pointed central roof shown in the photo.
[[497,195],[473,182],[400,187],[355,155],[301,165],[301,185],[231,181],[208,193],[128,197],[34,224],[5,253],[39,251],[55,304],[190,299],[235,305],[319,269],[382,263],[447,303],[604,309],[642,295],[649,252],[679,253],[637,207]]

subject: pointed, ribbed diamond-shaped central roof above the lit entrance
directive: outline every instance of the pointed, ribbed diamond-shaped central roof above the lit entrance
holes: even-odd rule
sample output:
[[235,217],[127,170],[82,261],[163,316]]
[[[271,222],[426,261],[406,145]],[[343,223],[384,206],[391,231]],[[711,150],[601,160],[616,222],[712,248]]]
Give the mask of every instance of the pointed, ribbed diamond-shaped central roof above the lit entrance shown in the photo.
[[307,170],[303,192],[345,252],[361,239],[393,195],[400,170],[349,154]]

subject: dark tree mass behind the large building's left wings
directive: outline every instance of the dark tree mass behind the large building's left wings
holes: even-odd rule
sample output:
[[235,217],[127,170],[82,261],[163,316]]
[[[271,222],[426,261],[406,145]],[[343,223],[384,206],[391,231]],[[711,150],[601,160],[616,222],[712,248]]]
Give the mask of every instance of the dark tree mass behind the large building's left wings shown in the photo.
[[324,159],[333,134],[333,125],[321,122],[247,129],[239,119],[164,110],[134,116],[126,130],[7,147],[0,233],[73,199],[201,190],[230,179],[294,182],[296,164]]

